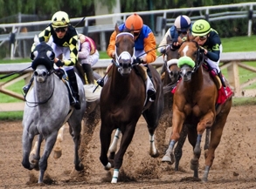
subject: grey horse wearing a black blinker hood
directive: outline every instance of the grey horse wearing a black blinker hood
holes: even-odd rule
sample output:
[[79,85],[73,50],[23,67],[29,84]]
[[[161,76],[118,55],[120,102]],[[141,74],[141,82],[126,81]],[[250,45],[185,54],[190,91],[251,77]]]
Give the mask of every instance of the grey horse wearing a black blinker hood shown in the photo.
[[[74,165],[77,171],[83,169],[80,163],[81,121],[86,110],[85,91],[82,81],[76,74],[80,94],[80,110],[69,103],[69,91],[66,84],[54,74],[54,52],[45,42],[38,44],[31,53],[34,70],[34,84],[26,96],[23,117],[23,160],[24,168],[39,170],[38,183],[43,183],[47,159],[52,152],[59,129],[68,122],[74,142]],[[34,137],[38,135],[38,148],[30,159]],[[45,150],[40,157],[40,145],[45,139]]]

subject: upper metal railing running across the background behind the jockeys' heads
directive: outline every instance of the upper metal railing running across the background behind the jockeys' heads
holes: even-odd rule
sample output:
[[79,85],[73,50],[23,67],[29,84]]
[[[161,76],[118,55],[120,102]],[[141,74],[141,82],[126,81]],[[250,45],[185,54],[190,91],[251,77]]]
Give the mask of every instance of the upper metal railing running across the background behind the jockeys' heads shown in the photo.
[[[248,36],[252,35],[252,26],[253,26],[253,17],[256,17],[256,12],[253,10],[256,3],[233,3],[233,4],[222,4],[216,6],[206,6],[206,7],[194,7],[194,8],[183,8],[183,9],[170,9],[170,10],[150,10],[150,11],[140,11],[137,12],[142,17],[146,17],[149,15],[156,16],[156,31],[158,32],[158,36],[156,37],[157,43],[160,42],[161,38],[163,37],[166,30],[173,24],[174,22],[174,14],[182,14],[183,12],[190,13],[190,12],[197,12],[198,16],[190,17],[192,21],[195,21],[198,18],[206,18],[210,22],[222,20],[222,19],[238,19],[238,18],[246,18],[248,17]],[[232,8],[236,9],[239,8],[239,11],[230,11]],[[216,13],[214,11],[222,11]],[[99,33],[100,35],[100,51],[106,51],[107,48],[107,35],[108,31],[114,30],[114,24],[104,24],[104,25],[90,25],[89,23],[93,23],[95,20],[106,19],[106,18],[113,18],[113,17],[120,17],[121,21],[124,22],[126,18],[132,14],[131,12],[126,13],[115,13],[115,14],[108,14],[108,15],[100,15],[100,16],[93,16],[93,17],[86,17],[83,21],[84,27],[78,27],[77,30],[81,33]],[[72,24],[79,23],[83,17],[76,17],[71,18]],[[28,32],[21,32],[21,28],[28,27],[28,26],[46,26],[49,24],[50,20],[45,21],[38,21],[38,22],[29,22],[29,23],[17,23],[17,24],[0,24],[0,28],[3,29],[10,29],[11,33],[2,34],[0,35],[0,46],[5,42],[10,41],[10,34],[15,33],[16,40],[32,40],[35,35],[38,35],[40,31],[38,30],[29,30]],[[17,44],[17,43],[16,43]],[[14,57],[14,52],[17,49],[16,44],[13,44],[11,48],[10,57]],[[28,54],[30,51],[31,45],[23,46],[24,53]],[[28,49],[26,51],[26,49]],[[21,54],[21,53],[20,53]]]

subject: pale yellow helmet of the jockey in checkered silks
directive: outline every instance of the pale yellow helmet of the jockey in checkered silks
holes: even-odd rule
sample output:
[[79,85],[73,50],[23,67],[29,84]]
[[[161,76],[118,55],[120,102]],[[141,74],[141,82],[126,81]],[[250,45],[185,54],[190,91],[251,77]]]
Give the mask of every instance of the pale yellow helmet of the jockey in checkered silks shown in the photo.
[[52,27],[63,28],[70,23],[69,17],[64,11],[58,11],[52,16]]

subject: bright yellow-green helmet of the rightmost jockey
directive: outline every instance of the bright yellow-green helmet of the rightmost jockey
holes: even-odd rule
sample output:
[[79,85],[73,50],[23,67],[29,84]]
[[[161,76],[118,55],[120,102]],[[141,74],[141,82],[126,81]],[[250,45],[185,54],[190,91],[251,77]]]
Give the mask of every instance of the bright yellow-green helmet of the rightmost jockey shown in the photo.
[[211,31],[211,25],[204,19],[197,20],[192,26],[193,36],[205,36]]

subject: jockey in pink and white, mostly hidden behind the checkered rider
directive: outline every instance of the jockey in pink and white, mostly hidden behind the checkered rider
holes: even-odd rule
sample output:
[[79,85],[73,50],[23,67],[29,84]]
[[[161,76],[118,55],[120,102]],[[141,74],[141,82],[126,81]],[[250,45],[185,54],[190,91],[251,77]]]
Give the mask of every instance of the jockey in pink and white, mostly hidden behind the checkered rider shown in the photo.
[[79,34],[80,51],[78,53],[80,64],[86,73],[88,84],[94,83],[92,66],[99,60],[100,54],[96,49],[93,39],[83,34]]

